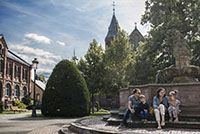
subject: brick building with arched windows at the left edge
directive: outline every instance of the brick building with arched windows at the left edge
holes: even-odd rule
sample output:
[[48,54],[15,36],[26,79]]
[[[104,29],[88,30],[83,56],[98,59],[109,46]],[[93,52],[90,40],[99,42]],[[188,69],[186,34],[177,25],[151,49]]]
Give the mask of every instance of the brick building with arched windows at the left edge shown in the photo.
[[19,100],[30,93],[31,65],[8,49],[0,35],[0,100],[5,104]]

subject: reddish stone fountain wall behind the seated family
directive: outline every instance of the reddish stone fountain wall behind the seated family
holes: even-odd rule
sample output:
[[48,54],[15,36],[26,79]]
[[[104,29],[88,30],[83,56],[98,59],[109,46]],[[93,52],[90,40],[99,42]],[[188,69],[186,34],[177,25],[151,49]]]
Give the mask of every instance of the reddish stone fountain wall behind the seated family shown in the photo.
[[159,87],[166,89],[167,95],[171,90],[178,90],[177,98],[181,101],[181,110],[184,115],[200,116],[200,83],[180,84],[148,84],[140,86],[129,86],[120,90],[120,112],[127,108],[128,96],[134,88],[141,89],[146,96],[147,102],[152,106],[153,96]]

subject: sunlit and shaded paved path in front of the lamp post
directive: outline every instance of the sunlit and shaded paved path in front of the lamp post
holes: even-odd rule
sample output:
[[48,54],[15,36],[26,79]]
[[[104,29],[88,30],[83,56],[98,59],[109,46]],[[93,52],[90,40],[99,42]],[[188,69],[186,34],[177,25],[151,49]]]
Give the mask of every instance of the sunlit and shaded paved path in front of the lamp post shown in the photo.
[[31,113],[0,115],[0,134],[58,134],[61,126],[76,119],[26,117]]

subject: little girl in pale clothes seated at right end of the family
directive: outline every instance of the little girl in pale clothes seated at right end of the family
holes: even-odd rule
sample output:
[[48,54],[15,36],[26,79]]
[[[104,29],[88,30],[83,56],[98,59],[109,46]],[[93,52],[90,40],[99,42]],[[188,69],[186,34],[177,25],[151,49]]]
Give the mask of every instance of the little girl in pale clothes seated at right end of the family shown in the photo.
[[174,90],[169,93],[168,112],[169,112],[170,122],[173,121],[173,118],[175,118],[174,122],[177,122],[178,114],[180,113],[180,109],[179,109],[180,101],[176,99],[177,92],[178,92],[177,90]]

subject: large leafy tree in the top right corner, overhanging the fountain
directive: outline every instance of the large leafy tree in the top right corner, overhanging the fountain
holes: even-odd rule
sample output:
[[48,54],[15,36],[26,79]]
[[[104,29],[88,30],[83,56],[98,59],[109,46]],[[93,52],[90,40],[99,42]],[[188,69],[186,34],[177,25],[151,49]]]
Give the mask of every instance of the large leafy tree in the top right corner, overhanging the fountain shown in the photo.
[[[176,31],[180,31],[191,48],[199,41],[200,32],[199,0],[146,0],[142,24],[150,24],[147,43],[156,56],[158,69],[174,64],[172,54]],[[193,39],[196,40],[193,40]],[[196,52],[195,50],[193,52]]]

